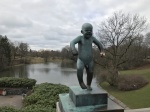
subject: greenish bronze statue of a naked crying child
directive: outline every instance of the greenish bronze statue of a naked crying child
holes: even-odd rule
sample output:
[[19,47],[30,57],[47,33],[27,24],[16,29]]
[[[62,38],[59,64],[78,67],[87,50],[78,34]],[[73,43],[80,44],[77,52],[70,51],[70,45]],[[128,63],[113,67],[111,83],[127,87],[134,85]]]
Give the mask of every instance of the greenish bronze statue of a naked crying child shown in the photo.
[[[100,55],[104,56],[102,44],[93,36],[93,26],[90,23],[84,23],[82,25],[81,33],[83,35],[78,36],[70,42],[70,47],[73,55],[78,55],[77,59],[77,77],[82,89],[92,90],[91,82],[93,78],[93,53],[92,43],[96,44],[100,50]],[[78,51],[75,48],[75,44],[78,43]],[[87,73],[87,86],[83,82],[83,70],[84,67]]]

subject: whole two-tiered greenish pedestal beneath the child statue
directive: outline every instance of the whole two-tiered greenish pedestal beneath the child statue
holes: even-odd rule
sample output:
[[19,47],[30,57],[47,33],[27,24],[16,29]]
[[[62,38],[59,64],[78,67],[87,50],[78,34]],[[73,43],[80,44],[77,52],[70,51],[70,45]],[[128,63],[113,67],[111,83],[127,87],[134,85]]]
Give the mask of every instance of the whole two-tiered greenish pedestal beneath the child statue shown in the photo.
[[69,94],[59,94],[59,108],[61,112],[124,112],[106,91],[96,87],[92,91],[70,87]]

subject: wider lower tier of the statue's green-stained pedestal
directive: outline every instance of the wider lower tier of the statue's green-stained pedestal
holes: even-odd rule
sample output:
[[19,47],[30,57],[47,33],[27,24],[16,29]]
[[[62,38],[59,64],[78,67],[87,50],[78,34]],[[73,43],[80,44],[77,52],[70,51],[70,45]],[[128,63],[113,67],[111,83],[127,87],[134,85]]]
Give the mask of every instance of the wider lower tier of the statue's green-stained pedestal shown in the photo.
[[107,100],[107,104],[76,107],[69,94],[59,94],[59,108],[61,112],[124,112],[124,109],[110,98]]

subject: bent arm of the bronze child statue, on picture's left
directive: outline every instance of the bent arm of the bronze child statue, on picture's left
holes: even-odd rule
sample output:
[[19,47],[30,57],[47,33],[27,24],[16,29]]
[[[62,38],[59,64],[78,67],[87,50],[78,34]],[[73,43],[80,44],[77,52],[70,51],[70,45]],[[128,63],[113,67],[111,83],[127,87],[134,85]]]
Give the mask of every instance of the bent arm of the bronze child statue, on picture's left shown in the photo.
[[71,51],[72,51],[73,55],[78,55],[78,51],[75,48],[75,44],[80,42],[80,40],[81,40],[81,36],[78,36],[77,38],[75,38],[74,40],[72,40],[70,42],[70,48],[71,48]]

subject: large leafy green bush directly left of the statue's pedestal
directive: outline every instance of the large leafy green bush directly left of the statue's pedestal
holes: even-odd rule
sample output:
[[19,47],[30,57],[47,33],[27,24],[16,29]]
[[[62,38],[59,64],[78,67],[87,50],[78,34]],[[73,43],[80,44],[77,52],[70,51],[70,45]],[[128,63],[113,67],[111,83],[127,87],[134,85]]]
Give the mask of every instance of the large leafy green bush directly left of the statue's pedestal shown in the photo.
[[[32,91],[33,93],[23,101],[26,112],[55,112],[58,95],[68,93],[69,88],[61,84],[42,83],[36,85]],[[38,109],[41,111],[37,111]]]

